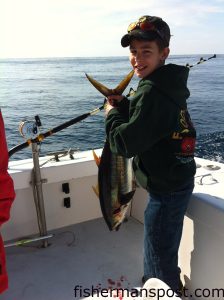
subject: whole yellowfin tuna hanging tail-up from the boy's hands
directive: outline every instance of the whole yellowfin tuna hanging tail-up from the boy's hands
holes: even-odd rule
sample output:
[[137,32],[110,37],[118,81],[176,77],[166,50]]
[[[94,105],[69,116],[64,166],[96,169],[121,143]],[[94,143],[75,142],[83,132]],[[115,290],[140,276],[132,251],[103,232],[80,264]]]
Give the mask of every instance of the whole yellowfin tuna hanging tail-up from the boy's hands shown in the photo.
[[[131,71],[115,89],[108,89],[86,74],[92,85],[104,96],[121,95],[129,84],[134,71]],[[108,140],[106,141],[102,156],[99,158],[93,151],[93,156],[99,168],[98,185],[94,192],[100,199],[103,217],[110,230],[118,230],[124,221],[131,199],[135,193],[132,161],[121,155],[111,152]]]

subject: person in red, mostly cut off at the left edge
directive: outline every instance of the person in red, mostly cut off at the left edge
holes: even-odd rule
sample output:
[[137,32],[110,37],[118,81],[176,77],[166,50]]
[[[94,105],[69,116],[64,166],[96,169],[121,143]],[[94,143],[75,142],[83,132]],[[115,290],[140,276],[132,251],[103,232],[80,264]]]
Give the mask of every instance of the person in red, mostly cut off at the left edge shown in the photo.
[[[0,229],[9,219],[12,201],[15,198],[13,181],[8,172],[8,150],[5,139],[5,129],[0,109]],[[8,288],[6,273],[5,249],[0,234],[0,294]]]

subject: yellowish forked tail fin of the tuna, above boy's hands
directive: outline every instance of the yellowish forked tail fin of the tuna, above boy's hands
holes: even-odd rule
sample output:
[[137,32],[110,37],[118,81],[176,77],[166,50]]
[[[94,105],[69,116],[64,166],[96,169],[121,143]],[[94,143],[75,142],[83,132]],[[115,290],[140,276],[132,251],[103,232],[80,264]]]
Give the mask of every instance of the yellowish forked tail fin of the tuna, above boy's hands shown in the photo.
[[[85,73],[86,74],[86,73]],[[104,96],[108,97],[110,95],[121,95],[123,91],[128,86],[132,76],[134,75],[134,70],[132,70],[115,89],[108,89],[105,85],[93,79],[91,76],[86,74],[87,79],[92,83],[92,85]]]

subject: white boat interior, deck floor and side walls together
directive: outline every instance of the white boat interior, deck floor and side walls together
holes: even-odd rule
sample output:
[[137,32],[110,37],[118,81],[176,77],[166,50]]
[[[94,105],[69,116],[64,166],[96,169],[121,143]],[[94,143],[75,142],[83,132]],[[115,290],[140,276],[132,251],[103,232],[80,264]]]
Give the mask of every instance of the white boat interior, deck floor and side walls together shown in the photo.
[[[100,154],[100,149],[97,150]],[[40,164],[49,158],[40,158]],[[192,200],[185,217],[179,251],[182,279],[190,291],[219,290],[224,278],[224,164],[197,158]],[[1,228],[6,243],[38,235],[31,181],[32,160],[10,163],[16,199],[10,220]],[[72,300],[89,296],[92,289],[137,288],[143,274],[143,212],[147,193],[138,188],[129,221],[110,232],[101,218],[99,199],[92,186],[97,167],[91,151],[63,157],[41,167],[49,239],[7,248],[9,290],[2,300]],[[62,191],[69,183],[70,192]],[[71,207],[63,205],[70,197]],[[74,289],[80,286],[75,295]],[[87,289],[87,290],[84,290]],[[192,296],[191,299],[194,299]],[[205,297],[201,300],[224,299]]]

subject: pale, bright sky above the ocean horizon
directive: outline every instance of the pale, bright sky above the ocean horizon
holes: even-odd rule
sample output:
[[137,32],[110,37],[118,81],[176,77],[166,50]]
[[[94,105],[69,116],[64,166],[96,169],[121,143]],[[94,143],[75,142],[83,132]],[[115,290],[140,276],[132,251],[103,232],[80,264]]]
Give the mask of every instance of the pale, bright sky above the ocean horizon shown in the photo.
[[0,58],[127,55],[145,14],[170,25],[171,54],[224,53],[224,0],[0,0]]

